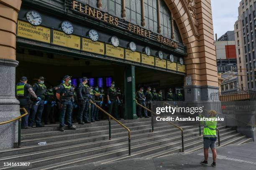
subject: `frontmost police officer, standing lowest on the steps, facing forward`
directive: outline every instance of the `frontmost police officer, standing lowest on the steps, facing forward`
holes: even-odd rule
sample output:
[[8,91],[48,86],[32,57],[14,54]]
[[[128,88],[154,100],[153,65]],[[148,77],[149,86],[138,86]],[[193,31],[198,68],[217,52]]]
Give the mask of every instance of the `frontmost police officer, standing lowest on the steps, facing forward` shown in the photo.
[[71,77],[69,75],[65,75],[63,77],[64,83],[59,86],[59,89],[56,92],[56,98],[60,100],[60,115],[59,115],[59,130],[64,131],[64,122],[65,115],[67,115],[67,125],[69,129],[75,130],[77,129],[74,125],[72,125],[72,101],[74,101],[73,95],[74,90],[71,83]]

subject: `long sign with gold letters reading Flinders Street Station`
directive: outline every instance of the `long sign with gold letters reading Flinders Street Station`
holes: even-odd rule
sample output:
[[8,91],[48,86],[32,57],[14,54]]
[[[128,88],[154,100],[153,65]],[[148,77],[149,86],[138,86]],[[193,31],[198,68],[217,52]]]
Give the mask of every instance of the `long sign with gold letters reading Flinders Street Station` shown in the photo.
[[151,32],[150,30],[146,30],[145,28],[142,28],[138,25],[129,23],[126,20],[117,18],[114,15],[110,15],[110,14],[100,11],[94,7],[90,7],[90,5],[88,5],[88,4],[83,4],[81,2],[77,2],[76,0],[73,0],[71,3],[71,9],[76,12],[82,13],[86,16],[90,16],[92,18],[101,20],[110,25],[116,26],[118,28],[122,28],[122,29],[128,30],[130,32],[133,32],[135,34],[138,34],[140,36],[147,37],[148,39],[158,41],[158,42],[160,42],[164,45],[167,45],[169,47],[173,47],[173,48],[178,47],[178,43],[169,38],[166,38],[162,35]]

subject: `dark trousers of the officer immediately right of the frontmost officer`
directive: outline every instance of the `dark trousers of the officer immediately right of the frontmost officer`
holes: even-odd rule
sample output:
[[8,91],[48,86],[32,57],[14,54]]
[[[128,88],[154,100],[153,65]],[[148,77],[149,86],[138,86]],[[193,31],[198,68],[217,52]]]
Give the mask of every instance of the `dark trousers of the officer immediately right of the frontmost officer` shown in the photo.
[[79,100],[78,104],[77,122],[90,122],[89,99]]

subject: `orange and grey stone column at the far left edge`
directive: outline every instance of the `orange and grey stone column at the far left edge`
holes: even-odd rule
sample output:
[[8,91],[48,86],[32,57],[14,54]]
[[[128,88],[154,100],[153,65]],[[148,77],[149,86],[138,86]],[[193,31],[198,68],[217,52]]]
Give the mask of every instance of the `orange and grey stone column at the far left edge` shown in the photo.
[[[21,0],[0,0],[0,122],[20,115],[15,98],[16,24]],[[18,121],[0,125],[0,150],[18,142]]]

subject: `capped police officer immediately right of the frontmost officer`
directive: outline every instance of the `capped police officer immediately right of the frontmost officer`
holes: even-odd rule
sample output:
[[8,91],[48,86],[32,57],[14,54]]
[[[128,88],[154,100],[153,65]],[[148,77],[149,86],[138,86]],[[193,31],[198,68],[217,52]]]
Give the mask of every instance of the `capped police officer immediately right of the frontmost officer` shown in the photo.
[[87,77],[82,78],[82,83],[80,83],[77,88],[77,97],[79,104],[79,111],[77,115],[78,123],[91,123],[89,115],[90,87],[87,85]]

